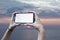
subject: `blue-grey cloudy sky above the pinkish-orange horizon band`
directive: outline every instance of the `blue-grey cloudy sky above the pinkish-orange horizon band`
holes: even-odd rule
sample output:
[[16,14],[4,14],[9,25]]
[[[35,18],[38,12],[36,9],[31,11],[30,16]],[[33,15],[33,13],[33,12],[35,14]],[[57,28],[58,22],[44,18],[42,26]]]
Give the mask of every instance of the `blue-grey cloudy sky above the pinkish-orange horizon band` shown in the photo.
[[0,0],[0,17],[25,8],[39,9],[41,17],[60,18],[60,0]]

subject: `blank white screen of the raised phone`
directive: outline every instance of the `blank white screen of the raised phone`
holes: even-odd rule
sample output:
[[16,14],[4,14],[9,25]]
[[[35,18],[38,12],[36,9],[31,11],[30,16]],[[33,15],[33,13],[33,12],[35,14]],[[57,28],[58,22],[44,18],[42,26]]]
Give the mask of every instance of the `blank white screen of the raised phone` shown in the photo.
[[16,14],[15,22],[18,22],[18,23],[33,23],[33,13]]

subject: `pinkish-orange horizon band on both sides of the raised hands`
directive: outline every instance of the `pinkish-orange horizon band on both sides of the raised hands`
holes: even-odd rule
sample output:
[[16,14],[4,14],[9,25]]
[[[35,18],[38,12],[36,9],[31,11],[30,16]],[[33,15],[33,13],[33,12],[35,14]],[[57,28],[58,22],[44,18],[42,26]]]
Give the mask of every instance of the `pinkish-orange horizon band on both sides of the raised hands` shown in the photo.
[[[0,23],[10,23],[11,17],[0,18]],[[60,25],[60,18],[40,18],[44,25]]]

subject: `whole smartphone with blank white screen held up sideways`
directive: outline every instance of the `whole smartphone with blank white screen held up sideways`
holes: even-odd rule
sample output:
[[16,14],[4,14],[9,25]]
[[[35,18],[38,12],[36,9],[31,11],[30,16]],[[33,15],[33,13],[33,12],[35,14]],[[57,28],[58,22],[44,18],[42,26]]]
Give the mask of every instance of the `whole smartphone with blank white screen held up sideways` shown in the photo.
[[33,12],[14,13],[13,21],[14,23],[20,24],[32,24],[35,22],[35,13]]

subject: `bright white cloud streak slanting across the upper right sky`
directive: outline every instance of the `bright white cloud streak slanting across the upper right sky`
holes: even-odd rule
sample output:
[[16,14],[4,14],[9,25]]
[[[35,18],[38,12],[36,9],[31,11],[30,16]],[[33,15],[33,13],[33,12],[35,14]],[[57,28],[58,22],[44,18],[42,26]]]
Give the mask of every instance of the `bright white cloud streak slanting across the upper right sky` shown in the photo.
[[[19,0],[18,0],[19,1]],[[50,8],[60,8],[59,5],[52,5],[52,2],[47,2],[47,1],[20,1],[22,3],[27,3],[34,5],[36,7],[50,7]]]

